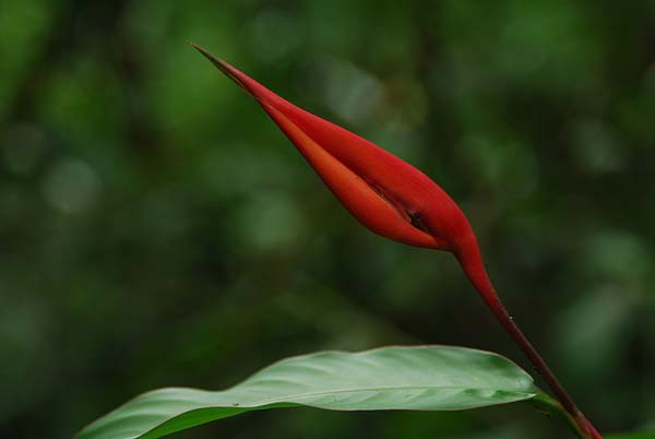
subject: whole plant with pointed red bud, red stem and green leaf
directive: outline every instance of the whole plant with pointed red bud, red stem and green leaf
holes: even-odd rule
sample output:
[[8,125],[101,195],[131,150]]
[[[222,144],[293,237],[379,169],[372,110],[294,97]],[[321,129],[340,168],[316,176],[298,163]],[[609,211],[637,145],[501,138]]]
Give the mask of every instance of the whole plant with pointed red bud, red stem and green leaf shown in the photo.
[[78,439],[153,439],[269,408],[456,411],[519,401],[561,417],[579,438],[602,439],[503,306],[468,220],[445,191],[406,162],[298,108],[202,47],[193,47],[257,99],[364,226],[409,246],[453,253],[552,395],[511,360],[465,347],[321,352],[278,361],[225,391],[170,388],[145,393],[91,424]]

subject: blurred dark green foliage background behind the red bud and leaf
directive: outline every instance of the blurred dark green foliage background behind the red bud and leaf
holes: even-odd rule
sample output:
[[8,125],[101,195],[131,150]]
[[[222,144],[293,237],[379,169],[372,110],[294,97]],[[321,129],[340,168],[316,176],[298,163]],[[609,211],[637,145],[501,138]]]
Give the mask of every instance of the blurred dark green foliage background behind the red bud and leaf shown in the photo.
[[[0,436],[385,344],[521,353],[370,234],[187,40],[433,177],[605,431],[655,419],[655,2],[0,1]],[[529,368],[528,368],[529,370]],[[179,438],[546,439],[526,404],[265,412]]]

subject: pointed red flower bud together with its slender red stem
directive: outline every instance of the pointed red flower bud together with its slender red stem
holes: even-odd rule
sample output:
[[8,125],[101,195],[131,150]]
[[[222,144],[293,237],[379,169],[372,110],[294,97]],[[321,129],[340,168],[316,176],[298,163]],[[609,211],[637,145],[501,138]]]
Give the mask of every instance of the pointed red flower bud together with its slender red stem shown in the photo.
[[581,432],[587,438],[602,439],[508,313],[487,275],[468,220],[448,193],[393,154],[298,108],[202,47],[193,47],[259,102],[325,186],[364,226],[410,246],[452,252]]

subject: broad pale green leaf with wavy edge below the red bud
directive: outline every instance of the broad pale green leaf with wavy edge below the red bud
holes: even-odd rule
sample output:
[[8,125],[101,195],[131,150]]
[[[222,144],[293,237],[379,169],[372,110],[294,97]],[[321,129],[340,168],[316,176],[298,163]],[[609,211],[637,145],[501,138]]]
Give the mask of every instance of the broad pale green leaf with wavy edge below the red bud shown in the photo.
[[448,346],[322,352],[278,361],[225,391],[171,388],[142,394],[78,439],[153,439],[264,408],[455,411],[537,393],[525,371],[488,352]]

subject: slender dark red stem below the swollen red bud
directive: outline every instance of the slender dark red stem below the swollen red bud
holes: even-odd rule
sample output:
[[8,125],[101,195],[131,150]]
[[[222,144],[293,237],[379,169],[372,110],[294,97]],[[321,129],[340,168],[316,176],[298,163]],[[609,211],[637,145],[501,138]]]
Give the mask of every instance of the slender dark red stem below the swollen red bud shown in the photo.
[[485,270],[483,258],[475,238],[473,238],[468,245],[462,246],[462,249],[455,252],[455,257],[460,261],[460,264],[462,264],[466,276],[475,289],[491,309],[491,312],[493,312],[500,324],[502,324],[504,330],[532,361],[537,369],[537,372],[541,376],[544,381],[546,381],[550,390],[552,390],[560,404],[562,404],[562,407],[573,417],[580,430],[590,439],[603,439],[592,423],[590,423],[580,408],[577,408],[573,399],[571,399],[544,358],[539,355],[529,340],[527,340],[523,331],[521,331],[508,312],[504,305],[500,301],[500,298],[487,275],[487,271]]

